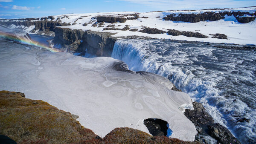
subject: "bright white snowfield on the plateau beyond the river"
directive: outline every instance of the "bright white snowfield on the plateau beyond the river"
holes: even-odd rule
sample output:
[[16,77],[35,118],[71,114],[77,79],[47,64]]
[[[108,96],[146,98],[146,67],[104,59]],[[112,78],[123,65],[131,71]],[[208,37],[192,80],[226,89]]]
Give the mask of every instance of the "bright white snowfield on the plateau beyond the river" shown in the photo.
[[[166,12],[105,12],[105,13],[87,13],[87,14],[61,14],[53,16],[55,17],[52,21],[61,20],[62,23],[70,23],[71,26],[64,26],[70,29],[82,29],[98,31],[98,32],[111,32],[116,33],[113,37],[126,37],[131,35],[151,37],[151,38],[164,38],[164,39],[173,39],[173,40],[188,40],[188,41],[201,41],[201,42],[210,42],[210,43],[235,43],[235,44],[254,44],[256,45],[256,20],[250,23],[239,23],[234,16],[225,16],[225,19],[218,21],[201,21],[198,23],[189,23],[189,22],[173,22],[163,20],[163,17],[166,17],[168,14],[191,14],[191,13],[204,13],[204,12],[250,12],[253,13],[256,11],[256,7],[249,8],[237,8],[237,9],[224,9],[224,10],[196,10],[196,11],[166,11]],[[175,29],[179,31],[191,31],[199,32],[203,35],[209,36],[209,38],[196,38],[196,37],[186,37],[183,35],[172,36],[167,34],[157,34],[151,35],[142,32],[131,32],[121,31],[121,30],[106,30],[103,31],[105,27],[111,25],[111,23],[104,23],[103,27],[93,27],[93,23],[96,23],[96,19],[93,17],[97,16],[122,16],[124,14],[138,14],[140,18],[137,20],[127,20],[125,23],[114,23],[114,28],[122,29],[125,25],[129,25],[130,29],[142,29],[143,27],[157,28],[163,31],[168,31],[167,29]],[[67,16],[67,17],[65,17]],[[87,16],[87,17],[85,17]],[[131,17],[131,16],[127,16]],[[148,17],[148,18],[142,18]],[[48,19],[51,21],[51,19]],[[34,20],[38,21],[38,20]],[[87,23],[87,26],[83,26],[84,23]],[[16,26],[17,27],[17,26]],[[32,27],[32,26],[31,26]],[[27,32],[30,32],[33,28],[24,28]],[[225,34],[227,35],[228,40],[211,38],[209,34]]]

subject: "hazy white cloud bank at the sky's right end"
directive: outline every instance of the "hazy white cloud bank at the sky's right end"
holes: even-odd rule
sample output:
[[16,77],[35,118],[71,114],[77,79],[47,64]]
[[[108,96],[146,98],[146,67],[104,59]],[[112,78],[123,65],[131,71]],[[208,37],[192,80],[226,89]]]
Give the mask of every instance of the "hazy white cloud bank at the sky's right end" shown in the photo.
[[158,10],[234,8],[256,5],[256,0],[117,0],[142,4]]

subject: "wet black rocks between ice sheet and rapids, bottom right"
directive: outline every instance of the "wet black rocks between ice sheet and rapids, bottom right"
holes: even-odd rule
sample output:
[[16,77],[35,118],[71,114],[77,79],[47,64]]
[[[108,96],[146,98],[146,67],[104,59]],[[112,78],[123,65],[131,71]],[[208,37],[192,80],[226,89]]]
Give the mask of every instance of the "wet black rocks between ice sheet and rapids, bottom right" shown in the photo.
[[198,131],[195,140],[205,143],[204,137],[211,136],[221,144],[240,144],[226,127],[214,122],[202,104],[193,102],[193,107],[194,110],[186,109],[184,115],[193,122]]

